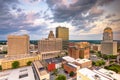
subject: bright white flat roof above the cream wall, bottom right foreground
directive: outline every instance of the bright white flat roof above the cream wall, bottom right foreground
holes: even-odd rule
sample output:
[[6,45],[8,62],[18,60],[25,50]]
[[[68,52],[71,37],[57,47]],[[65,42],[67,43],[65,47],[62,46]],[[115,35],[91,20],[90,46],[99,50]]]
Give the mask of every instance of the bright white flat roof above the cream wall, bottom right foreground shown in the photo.
[[82,75],[88,77],[90,80],[113,80],[111,77],[101,74],[100,72],[90,70],[88,68],[82,68],[78,71]]

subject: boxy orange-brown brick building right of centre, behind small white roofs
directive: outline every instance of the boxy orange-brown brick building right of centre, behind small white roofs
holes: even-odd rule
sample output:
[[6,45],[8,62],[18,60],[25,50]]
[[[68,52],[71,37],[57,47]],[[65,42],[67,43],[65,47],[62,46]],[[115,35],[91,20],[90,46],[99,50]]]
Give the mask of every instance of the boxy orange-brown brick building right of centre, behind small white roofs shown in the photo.
[[90,44],[88,42],[76,42],[74,46],[69,46],[68,52],[68,55],[75,59],[88,59],[90,57]]

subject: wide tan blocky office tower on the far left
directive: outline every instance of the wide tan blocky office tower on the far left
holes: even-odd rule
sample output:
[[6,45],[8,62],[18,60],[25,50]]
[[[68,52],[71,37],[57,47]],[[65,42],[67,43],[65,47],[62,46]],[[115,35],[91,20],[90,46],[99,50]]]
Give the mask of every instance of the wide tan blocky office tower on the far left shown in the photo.
[[9,35],[8,36],[8,55],[19,55],[29,53],[28,35]]

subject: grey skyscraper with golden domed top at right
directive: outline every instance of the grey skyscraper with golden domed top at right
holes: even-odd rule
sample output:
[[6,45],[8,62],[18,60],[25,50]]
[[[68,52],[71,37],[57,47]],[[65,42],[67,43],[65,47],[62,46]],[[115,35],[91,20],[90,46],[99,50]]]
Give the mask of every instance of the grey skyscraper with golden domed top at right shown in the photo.
[[117,55],[117,42],[113,41],[113,31],[110,27],[104,29],[103,41],[101,42],[101,53]]

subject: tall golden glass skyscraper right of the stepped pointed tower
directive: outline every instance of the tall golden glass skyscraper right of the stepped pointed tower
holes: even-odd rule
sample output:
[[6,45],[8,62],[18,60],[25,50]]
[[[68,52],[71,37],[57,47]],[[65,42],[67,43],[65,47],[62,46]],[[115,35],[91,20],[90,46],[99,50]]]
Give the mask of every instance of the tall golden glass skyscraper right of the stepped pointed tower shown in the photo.
[[62,49],[67,50],[69,44],[69,28],[61,26],[57,27],[56,38],[62,38]]

